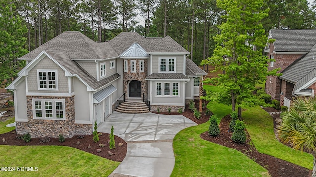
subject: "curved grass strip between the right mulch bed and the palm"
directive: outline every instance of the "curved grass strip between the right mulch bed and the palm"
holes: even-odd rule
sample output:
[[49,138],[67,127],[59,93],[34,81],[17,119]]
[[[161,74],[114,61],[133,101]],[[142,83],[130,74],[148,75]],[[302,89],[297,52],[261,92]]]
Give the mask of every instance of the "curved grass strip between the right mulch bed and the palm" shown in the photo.
[[273,118],[259,106],[247,108],[242,113],[247,130],[256,149],[264,154],[313,169],[313,156],[283,145],[276,138],[273,130]]

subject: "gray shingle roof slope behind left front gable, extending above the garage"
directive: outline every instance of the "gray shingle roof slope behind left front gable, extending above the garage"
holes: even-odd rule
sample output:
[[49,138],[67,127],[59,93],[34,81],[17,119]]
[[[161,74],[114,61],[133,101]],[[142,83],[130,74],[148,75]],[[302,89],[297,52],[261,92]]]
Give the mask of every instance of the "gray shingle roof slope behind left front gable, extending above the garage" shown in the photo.
[[91,74],[84,70],[78,63],[72,61],[65,51],[46,51],[53,59],[62,65],[71,74],[77,74],[84,82],[93,89],[99,89],[102,86],[120,77],[118,73],[105,79],[97,81]]

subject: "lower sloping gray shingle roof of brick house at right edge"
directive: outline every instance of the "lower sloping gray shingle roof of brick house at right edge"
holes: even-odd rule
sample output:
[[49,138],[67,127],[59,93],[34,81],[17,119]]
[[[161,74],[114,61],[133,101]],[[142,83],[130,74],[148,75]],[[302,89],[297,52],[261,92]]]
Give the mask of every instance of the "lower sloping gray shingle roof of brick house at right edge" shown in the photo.
[[299,89],[312,78],[316,77],[316,44],[301,59],[288,66],[279,78],[294,83],[294,90]]

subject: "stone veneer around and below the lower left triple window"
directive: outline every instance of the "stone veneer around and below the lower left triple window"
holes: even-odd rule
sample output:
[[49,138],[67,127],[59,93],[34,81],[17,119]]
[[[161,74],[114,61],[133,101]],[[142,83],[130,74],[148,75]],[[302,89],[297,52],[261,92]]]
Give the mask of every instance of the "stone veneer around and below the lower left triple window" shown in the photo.
[[[66,120],[39,120],[33,119],[32,99],[65,99]],[[58,137],[59,134],[71,138],[79,134],[92,134],[92,124],[75,124],[74,96],[50,97],[50,96],[27,96],[28,122],[16,122],[16,133],[30,133],[31,137]]]

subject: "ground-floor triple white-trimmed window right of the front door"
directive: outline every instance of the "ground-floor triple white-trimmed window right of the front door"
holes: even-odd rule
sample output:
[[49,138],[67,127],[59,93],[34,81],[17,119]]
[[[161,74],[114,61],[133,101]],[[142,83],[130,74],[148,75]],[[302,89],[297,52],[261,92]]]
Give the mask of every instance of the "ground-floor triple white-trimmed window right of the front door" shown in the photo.
[[[163,86],[163,87],[162,87]],[[172,90],[171,90],[172,87]],[[172,91],[172,94],[171,94]],[[156,82],[155,96],[158,97],[179,97],[178,82]]]

